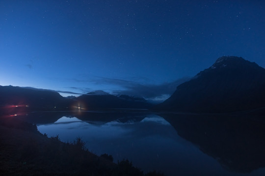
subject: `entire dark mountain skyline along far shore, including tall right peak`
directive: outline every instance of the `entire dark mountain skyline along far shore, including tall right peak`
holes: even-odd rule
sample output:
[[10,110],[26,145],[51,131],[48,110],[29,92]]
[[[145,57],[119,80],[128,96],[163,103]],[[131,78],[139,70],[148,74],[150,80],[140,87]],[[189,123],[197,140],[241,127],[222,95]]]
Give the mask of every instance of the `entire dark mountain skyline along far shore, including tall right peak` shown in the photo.
[[22,111],[152,108],[159,111],[217,113],[263,109],[265,69],[241,57],[223,56],[211,67],[179,85],[170,98],[155,107],[144,98],[115,96],[102,90],[79,97],[62,97],[52,90],[0,86],[0,107],[8,106]]

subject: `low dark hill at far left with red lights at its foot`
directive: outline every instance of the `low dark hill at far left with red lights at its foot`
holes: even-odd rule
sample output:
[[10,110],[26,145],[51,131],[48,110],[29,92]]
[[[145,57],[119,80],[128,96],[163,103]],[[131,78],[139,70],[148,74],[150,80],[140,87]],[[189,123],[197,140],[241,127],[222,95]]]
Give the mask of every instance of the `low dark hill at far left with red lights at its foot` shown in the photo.
[[70,100],[58,92],[37,88],[0,86],[0,107],[6,113],[29,110],[65,110]]

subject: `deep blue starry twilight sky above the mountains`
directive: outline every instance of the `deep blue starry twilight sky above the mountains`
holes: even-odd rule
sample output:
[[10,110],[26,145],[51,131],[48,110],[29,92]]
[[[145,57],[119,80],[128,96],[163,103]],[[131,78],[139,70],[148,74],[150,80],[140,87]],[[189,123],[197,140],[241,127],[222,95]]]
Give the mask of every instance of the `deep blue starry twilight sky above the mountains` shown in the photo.
[[264,17],[264,0],[0,0],[0,85],[165,99],[224,55],[265,67]]

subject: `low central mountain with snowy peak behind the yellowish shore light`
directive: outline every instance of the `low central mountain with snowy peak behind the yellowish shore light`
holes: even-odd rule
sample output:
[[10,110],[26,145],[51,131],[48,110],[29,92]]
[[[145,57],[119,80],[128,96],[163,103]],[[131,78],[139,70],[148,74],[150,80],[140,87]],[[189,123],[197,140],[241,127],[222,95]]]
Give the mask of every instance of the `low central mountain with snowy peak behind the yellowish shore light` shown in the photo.
[[89,92],[75,99],[75,107],[85,110],[104,109],[148,109],[152,104],[145,99],[134,98],[127,95],[115,96],[102,90]]

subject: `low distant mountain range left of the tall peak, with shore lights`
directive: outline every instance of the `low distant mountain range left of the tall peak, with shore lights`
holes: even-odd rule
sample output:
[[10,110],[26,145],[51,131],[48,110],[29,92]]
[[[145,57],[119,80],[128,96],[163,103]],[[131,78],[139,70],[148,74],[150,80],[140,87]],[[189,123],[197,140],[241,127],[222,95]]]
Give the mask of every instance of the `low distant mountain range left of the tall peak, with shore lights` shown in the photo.
[[27,111],[149,109],[152,106],[143,98],[114,96],[101,90],[79,97],[62,97],[53,90],[0,86],[0,113],[5,114]]

